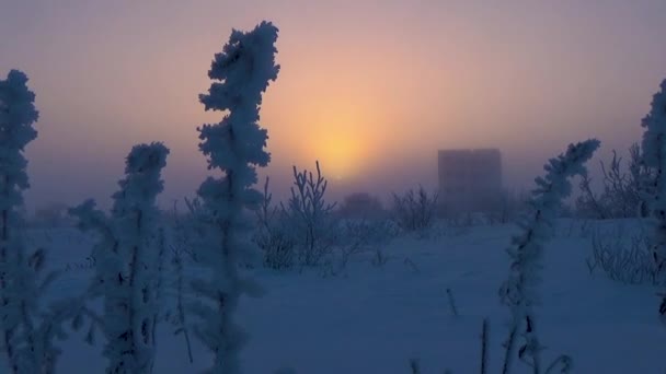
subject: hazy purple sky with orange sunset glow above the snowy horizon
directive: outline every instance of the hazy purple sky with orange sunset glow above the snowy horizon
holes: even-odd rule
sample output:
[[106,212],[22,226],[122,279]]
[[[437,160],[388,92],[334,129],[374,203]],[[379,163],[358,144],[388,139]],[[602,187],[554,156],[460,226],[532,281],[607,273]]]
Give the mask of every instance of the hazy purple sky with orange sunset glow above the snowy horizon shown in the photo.
[[[320,161],[332,199],[435,188],[437,150],[498,148],[507,188],[530,188],[570,142],[600,157],[640,141],[666,78],[666,2],[394,0],[0,0],[0,77],[30,77],[41,118],[26,204],[102,206],[133,144],[171,149],[160,203],[210,172],[196,128],[217,122],[198,94],[232,28],[279,28],[264,95],[272,163]],[[598,161],[595,161],[598,163]]]

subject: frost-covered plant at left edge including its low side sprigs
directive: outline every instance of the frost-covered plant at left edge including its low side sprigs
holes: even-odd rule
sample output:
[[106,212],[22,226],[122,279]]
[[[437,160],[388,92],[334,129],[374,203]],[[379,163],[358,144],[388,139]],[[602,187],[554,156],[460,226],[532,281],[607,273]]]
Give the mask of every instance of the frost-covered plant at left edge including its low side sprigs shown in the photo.
[[26,83],[18,70],[0,80],[0,370],[51,374],[61,353],[55,340],[68,338],[64,324],[73,319],[78,329],[83,316],[94,315],[82,296],[39,303],[58,272],[45,273],[46,249],[28,253],[24,232],[23,190],[30,185],[23,151],[37,137],[32,125],[38,117]]

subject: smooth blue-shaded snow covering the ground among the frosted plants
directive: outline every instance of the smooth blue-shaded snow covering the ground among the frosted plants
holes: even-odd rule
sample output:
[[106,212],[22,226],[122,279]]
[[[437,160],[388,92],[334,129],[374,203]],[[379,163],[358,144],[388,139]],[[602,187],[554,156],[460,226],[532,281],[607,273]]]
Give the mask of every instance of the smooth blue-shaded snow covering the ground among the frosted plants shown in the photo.
[[[664,373],[666,328],[657,319],[658,290],[611,281],[598,269],[590,276],[587,227],[562,221],[546,247],[537,309],[544,361],[567,353],[575,373]],[[490,319],[491,372],[498,372],[508,314],[497,291],[507,274],[504,249],[514,231],[495,225],[425,239],[398,237],[381,248],[390,256],[383,266],[371,262],[371,253],[360,254],[332,277],[322,269],[254,270],[267,294],[243,300],[240,308],[239,322],[251,335],[242,354],[244,372],[288,366],[301,374],[398,374],[410,373],[409,360],[415,358],[423,373],[478,373],[484,317]],[[51,249],[53,266],[85,262],[91,239],[76,230],[31,235],[34,245]],[[90,276],[84,267],[66,271],[54,296],[77,293]],[[209,358],[202,347],[193,339],[195,363],[190,364],[183,337],[172,330],[161,326],[154,372],[205,367]],[[62,347],[59,373],[103,373],[101,341],[91,348],[78,334]],[[520,363],[515,366],[528,372]]]

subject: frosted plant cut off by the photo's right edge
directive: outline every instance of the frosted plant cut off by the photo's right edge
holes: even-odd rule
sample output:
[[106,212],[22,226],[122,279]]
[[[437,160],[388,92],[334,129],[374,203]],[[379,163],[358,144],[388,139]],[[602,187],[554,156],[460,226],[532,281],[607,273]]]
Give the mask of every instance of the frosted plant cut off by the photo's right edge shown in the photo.
[[[666,80],[662,82],[661,91],[653,96],[651,110],[641,126],[645,128],[641,144],[643,162],[655,173],[652,185],[648,186],[652,196],[647,200],[654,224],[653,258],[657,271],[666,273],[662,271],[666,266]],[[666,324],[666,293],[662,297],[659,316]]]

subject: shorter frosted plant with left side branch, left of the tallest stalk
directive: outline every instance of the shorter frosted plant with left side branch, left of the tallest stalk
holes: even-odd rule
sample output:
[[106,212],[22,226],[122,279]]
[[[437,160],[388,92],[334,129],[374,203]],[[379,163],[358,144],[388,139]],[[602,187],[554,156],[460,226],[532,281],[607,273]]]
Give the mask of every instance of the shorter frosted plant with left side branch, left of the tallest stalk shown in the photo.
[[97,230],[102,241],[92,296],[104,297],[103,331],[107,373],[150,373],[156,353],[158,285],[157,196],[169,150],[162,143],[135,145],[127,156],[125,178],[113,195],[112,215],[94,209],[92,200],[71,210],[82,229]]

